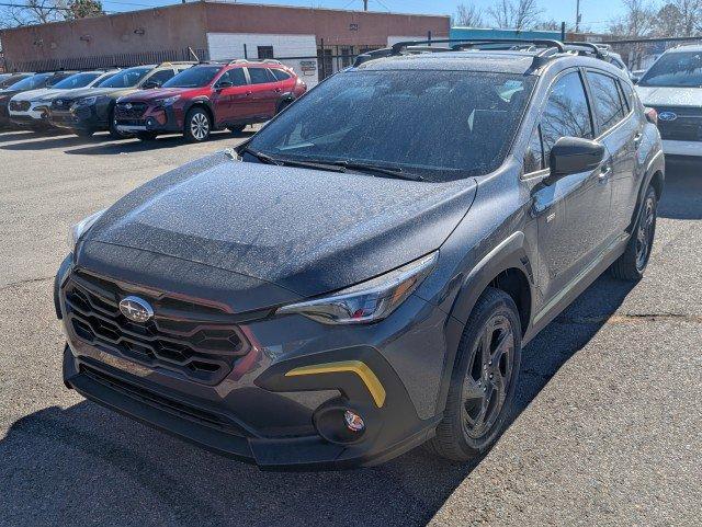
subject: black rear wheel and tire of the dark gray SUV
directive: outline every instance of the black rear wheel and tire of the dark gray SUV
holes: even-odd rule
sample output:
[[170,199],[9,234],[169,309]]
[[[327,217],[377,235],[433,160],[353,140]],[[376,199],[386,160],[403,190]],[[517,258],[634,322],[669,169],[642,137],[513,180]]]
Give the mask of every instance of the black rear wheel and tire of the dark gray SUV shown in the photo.
[[610,267],[612,276],[621,280],[636,282],[644,276],[650,259],[650,250],[656,234],[656,210],[658,196],[653,186],[646,188],[644,203],[638,213],[636,226],[626,244],[626,250]]

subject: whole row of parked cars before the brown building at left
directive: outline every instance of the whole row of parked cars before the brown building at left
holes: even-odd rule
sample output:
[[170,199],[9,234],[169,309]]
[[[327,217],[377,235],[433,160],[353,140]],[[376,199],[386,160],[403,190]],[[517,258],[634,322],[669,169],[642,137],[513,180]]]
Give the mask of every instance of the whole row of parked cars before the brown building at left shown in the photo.
[[18,73],[0,78],[0,126],[141,140],[182,133],[204,141],[213,130],[241,131],[270,119],[306,90],[276,60]]

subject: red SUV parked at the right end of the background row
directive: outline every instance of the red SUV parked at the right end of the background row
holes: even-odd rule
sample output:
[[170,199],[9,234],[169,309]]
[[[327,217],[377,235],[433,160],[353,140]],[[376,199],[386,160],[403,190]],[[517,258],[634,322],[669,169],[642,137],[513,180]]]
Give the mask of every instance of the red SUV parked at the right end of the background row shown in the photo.
[[263,123],[305,93],[307,85],[278,60],[205,62],[177,75],[162,88],[121,98],[115,125],[122,133],[150,140],[183,133],[204,141],[210,133]]

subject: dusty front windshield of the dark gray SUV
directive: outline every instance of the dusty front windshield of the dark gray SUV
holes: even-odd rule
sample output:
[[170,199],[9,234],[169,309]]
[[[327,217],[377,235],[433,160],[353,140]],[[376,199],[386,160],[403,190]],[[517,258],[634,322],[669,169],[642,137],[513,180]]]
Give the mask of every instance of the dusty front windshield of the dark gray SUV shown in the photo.
[[486,72],[338,73],[248,147],[279,161],[369,163],[428,181],[485,174],[502,163],[533,84]]

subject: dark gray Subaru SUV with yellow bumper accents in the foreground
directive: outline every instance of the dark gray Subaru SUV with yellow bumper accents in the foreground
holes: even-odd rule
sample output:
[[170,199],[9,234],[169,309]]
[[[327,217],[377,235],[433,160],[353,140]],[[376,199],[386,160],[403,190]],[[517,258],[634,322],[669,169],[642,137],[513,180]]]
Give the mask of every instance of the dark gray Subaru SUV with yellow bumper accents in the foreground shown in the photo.
[[664,157],[597,48],[403,43],[71,232],[64,379],[262,468],[466,460],[522,346],[638,279]]

